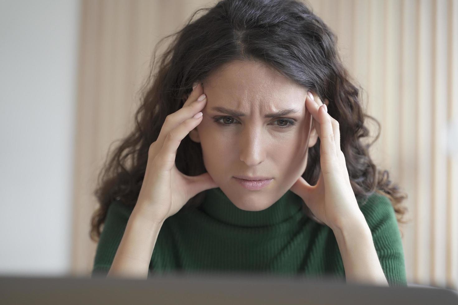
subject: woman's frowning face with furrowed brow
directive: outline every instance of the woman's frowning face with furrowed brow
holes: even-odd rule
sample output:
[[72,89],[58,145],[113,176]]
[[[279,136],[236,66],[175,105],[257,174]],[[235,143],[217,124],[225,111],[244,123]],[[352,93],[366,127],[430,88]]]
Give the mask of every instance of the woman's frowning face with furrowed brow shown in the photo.
[[[266,65],[237,61],[209,77],[203,91],[203,119],[189,136],[201,143],[207,172],[236,207],[270,207],[304,173],[308,147],[317,140],[305,108],[307,90]],[[284,109],[295,112],[266,117]],[[234,178],[240,175],[273,180],[252,191]]]

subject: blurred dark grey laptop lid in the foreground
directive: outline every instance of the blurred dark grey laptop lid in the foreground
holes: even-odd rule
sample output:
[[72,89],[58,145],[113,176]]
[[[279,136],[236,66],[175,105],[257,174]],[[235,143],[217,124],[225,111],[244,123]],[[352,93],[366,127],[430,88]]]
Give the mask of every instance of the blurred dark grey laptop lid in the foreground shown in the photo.
[[456,305],[458,293],[234,272],[169,272],[147,279],[0,276],[0,304]]

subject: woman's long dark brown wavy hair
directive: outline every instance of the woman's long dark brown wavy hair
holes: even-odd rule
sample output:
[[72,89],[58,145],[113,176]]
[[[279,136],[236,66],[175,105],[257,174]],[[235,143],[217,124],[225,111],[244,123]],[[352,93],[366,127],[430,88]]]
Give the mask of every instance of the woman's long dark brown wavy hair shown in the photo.
[[[205,13],[194,20],[201,11]],[[167,38],[173,39],[155,66],[158,47]],[[267,64],[299,86],[310,88],[322,100],[327,99],[329,114],[339,122],[341,150],[356,199],[364,204],[374,192],[385,195],[398,222],[406,223],[402,217],[407,208],[402,201],[407,194],[369,156],[369,147],[380,136],[380,124],[364,113],[360,102],[362,90],[344,68],[336,41],[337,37],[322,19],[299,0],[222,0],[213,7],[196,10],[182,29],[162,38],[154,49],[151,70],[141,88],[142,103],[135,114],[136,125],[111,157],[107,153],[107,161],[98,175],[94,195],[100,206],[91,218],[91,239],[99,239],[113,201],[135,206],[148,149],[157,140],[167,115],[182,108],[183,97],[191,93],[194,82],[203,82],[218,67],[233,60]],[[369,136],[365,118],[374,120],[379,127],[370,144],[361,142]],[[319,152],[318,139],[309,148],[302,174],[311,185],[316,184],[321,171]],[[181,142],[175,163],[186,175],[206,172],[202,147],[189,136]],[[199,206],[204,195],[200,192],[185,207]],[[305,204],[303,211],[322,223]]]

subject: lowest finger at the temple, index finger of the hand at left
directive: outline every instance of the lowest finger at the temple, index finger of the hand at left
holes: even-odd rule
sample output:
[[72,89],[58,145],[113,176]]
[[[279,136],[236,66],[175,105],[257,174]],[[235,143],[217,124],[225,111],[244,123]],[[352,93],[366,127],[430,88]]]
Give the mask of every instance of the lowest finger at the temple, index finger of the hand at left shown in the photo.
[[198,118],[191,117],[183,121],[180,125],[169,131],[165,137],[164,144],[156,158],[154,159],[155,168],[159,172],[171,170],[175,164],[176,151],[185,136],[202,121],[202,114]]

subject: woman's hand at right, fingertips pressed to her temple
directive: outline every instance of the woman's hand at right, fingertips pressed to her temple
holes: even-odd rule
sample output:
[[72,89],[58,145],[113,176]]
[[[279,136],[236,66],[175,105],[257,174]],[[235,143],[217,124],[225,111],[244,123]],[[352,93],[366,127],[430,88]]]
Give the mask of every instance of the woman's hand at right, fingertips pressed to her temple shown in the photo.
[[316,218],[332,229],[342,229],[346,223],[359,221],[364,216],[350,185],[344,153],[340,150],[339,123],[327,113],[324,109],[327,106],[323,106],[315,93],[307,93],[305,107],[313,117],[320,138],[321,173],[316,185],[311,186],[300,176],[290,190],[304,200]]

